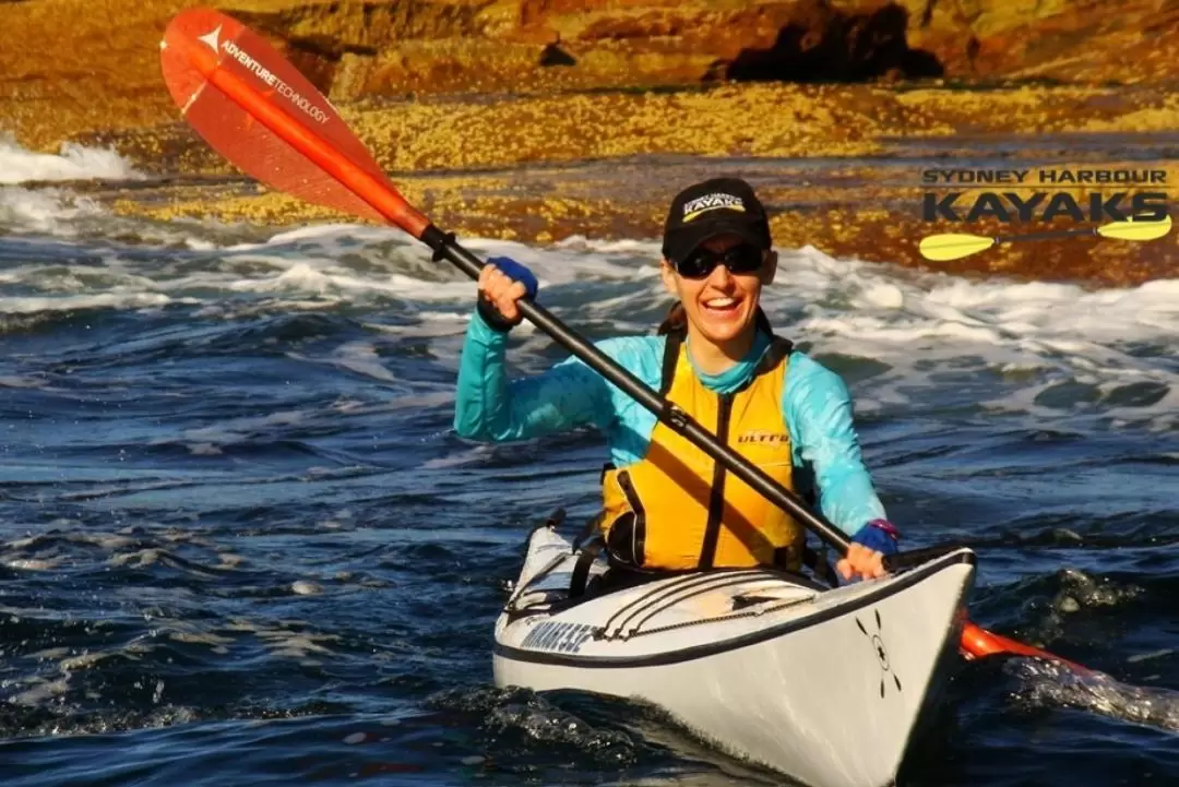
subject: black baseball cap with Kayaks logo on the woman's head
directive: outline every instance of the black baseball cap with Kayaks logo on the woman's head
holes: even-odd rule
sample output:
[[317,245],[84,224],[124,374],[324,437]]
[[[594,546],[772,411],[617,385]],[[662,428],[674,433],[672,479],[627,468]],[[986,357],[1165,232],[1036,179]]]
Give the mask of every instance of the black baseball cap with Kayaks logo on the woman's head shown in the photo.
[[664,223],[663,254],[683,260],[702,243],[735,233],[762,249],[772,245],[770,221],[753,187],[740,178],[712,178],[676,194]]

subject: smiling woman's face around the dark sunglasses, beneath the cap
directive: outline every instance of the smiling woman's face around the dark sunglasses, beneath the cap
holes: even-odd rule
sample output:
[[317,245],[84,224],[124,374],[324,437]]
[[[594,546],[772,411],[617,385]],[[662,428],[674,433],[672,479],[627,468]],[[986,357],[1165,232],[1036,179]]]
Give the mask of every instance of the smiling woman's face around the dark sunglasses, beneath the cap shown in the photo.
[[[739,236],[726,234],[704,243],[717,254],[740,245]],[[753,330],[762,287],[773,282],[778,256],[762,252],[762,266],[752,273],[732,273],[720,263],[704,278],[687,278],[676,272],[665,259],[661,266],[664,285],[679,298],[689,324],[696,333],[716,345],[724,345]]]

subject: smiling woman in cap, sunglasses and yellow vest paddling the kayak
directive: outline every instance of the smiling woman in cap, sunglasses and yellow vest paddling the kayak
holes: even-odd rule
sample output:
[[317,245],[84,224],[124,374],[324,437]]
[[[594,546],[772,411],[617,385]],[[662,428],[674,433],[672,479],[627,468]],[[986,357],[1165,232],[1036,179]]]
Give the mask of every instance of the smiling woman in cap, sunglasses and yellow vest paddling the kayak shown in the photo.
[[[843,381],[776,337],[758,306],[777,269],[771,246],[747,183],[685,189],[667,214],[660,267],[676,305],[657,336],[597,346],[785,488],[817,491],[823,514],[852,540],[839,574],[880,577],[898,534],[861,461]],[[611,463],[597,525],[615,566],[797,569],[802,525],[580,359],[507,379],[506,337],[526,295],[536,295],[531,271],[488,260],[462,350],[457,434],[500,442],[575,426],[605,432]]]

